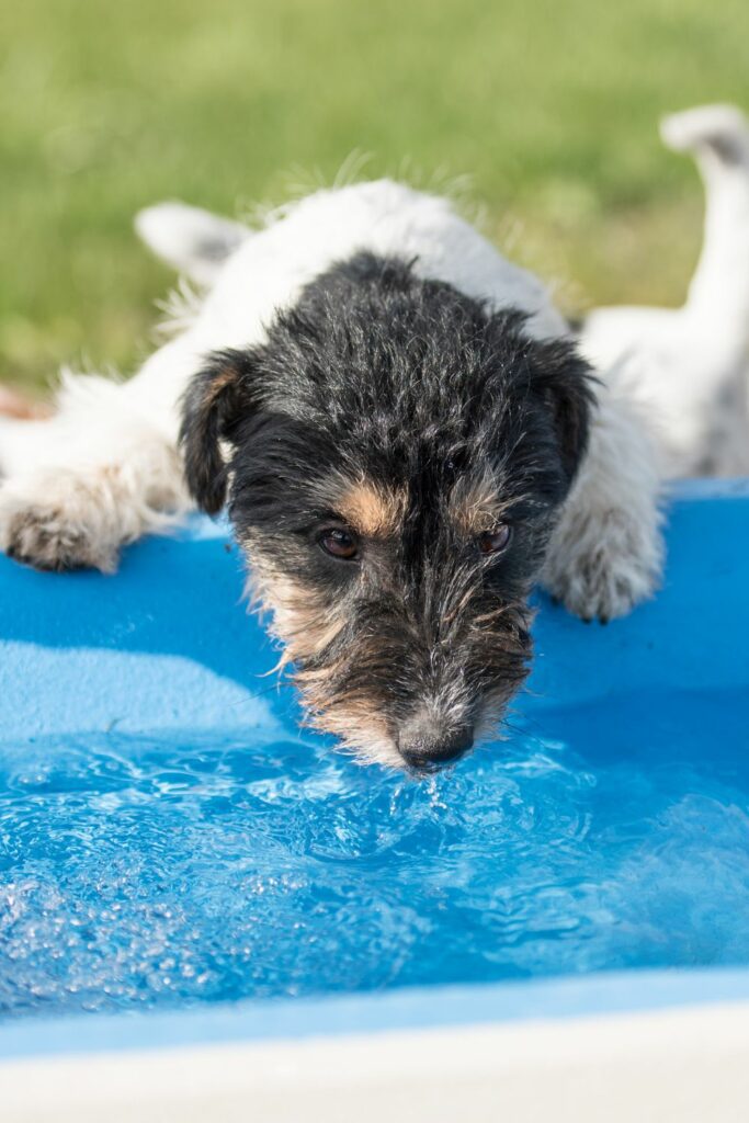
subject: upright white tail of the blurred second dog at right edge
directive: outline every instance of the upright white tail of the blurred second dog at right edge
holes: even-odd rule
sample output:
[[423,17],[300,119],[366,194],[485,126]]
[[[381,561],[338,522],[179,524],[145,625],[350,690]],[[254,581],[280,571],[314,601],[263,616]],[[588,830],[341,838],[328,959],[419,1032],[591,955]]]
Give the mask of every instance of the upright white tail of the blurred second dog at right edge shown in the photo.
[[705,185],[705,228],[687,308],[749,341],[749,121],[701,106],[661,121],[664,143],[691,153]]

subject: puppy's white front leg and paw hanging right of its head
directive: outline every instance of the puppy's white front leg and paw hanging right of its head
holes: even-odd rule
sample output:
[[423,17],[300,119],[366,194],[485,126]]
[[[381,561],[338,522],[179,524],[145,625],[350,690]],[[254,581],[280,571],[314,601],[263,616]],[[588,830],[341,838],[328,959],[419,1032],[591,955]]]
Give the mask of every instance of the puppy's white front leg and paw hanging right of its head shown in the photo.
[[658,585],[660,473],[641,418],[601,390],[590,445],[549,544],[542,582],[584,620],[624,615]]

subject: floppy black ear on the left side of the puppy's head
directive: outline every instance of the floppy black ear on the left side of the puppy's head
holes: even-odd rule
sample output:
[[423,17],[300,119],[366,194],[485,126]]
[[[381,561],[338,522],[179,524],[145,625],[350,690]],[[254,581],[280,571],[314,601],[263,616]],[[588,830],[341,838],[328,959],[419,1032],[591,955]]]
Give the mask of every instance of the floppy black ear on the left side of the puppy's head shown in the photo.
[[255,408],[252,363],[241,351],[217,351],[182,398],[180,445],[184,475],[198,505],[216,514],[226,501],[228,465],[221,445]]

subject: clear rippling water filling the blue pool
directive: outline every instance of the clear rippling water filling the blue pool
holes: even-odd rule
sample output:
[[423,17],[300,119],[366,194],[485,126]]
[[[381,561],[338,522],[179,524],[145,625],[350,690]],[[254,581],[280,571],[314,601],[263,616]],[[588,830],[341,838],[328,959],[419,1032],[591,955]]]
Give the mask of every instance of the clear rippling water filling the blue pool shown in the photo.
[[317,740],[0,748],[0,1013],[749,964],[746,712],[622,696],[428,782]]

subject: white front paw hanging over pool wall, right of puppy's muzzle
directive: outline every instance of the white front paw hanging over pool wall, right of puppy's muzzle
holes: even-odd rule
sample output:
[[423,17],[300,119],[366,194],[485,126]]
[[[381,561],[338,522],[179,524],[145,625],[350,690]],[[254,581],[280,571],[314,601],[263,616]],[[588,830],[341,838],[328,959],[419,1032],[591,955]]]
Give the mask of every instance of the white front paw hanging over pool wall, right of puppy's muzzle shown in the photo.
[[557,527],[542,582],[569,612],[608,623],[652,596],[661,566],[657,526],[622,510],[591,511]]

